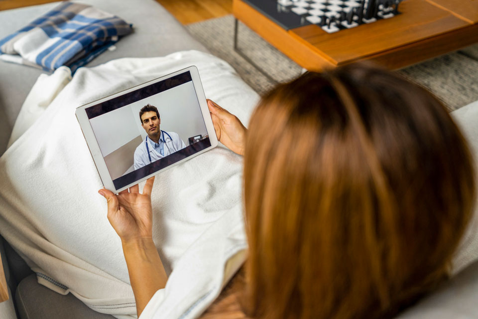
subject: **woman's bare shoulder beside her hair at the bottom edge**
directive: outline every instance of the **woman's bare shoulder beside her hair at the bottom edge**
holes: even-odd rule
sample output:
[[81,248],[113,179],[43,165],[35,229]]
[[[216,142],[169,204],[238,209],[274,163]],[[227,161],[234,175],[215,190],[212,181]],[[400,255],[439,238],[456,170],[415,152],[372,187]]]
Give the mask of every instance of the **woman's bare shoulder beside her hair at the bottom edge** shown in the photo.
[[245,276],[241,267],[200,319],[250,319],[242,310],[244,289]]

